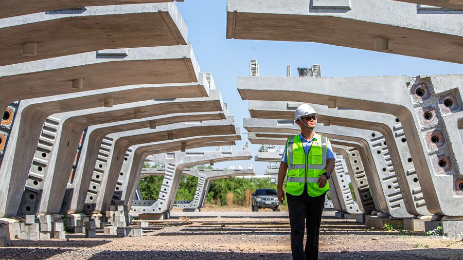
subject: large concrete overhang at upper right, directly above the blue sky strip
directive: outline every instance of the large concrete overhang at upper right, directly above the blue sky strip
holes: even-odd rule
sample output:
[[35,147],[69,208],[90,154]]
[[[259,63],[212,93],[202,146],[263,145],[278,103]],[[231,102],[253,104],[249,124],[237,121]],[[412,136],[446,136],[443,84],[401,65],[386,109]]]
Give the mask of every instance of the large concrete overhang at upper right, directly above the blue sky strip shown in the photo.
[[227,39],[317,42],[463,63],[462,13],[390,0],[228,0]]

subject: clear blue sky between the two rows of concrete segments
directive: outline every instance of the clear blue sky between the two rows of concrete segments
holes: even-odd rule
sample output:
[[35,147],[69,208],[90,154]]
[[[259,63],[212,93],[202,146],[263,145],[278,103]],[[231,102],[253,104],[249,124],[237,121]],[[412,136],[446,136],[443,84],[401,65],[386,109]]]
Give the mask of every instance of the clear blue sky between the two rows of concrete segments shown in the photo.
[[[242,100],[236,86],[237,77],[249,76],[249,62],[256,59],[260,76],[297,76],[297,67],[313,64],[322,66],[323,77],[397,76],[463,73],[463,65],[448,62],[406,57],[390,53],[367,51],[319,43],[277,42],[226,39],[226,0],[184,0],[176,3],[187,27],[188,41],[198,60],[201,71],[211,72],[221,90],[230,116],[235,116],[241,128],[243,141],[247,141],[242,128],[243,118],[249,118],[247,101]],[[259,145],[251,145],[254,155]],[[206,150],[206,149],[203,149]],[[210,150],[210,149],[209,149]],[[217,163],[216,168],[229,168],[230,164],[247,168],[252,163],[256,174],[263,174],[268,163],[238,161]]]

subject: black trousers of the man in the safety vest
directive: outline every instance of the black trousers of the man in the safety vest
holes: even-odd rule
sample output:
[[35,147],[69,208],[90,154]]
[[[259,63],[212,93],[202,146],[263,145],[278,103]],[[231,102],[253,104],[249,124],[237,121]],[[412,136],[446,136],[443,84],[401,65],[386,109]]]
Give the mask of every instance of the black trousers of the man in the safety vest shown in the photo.
[[[318,234],[322,212],[325,206],[325,194],[310,197],[306,188],[300,196],[286,194],[291,225],[291,252],[293,260],[318,259]],[[304,249],[304,229],[307,229],[306,248]]]

